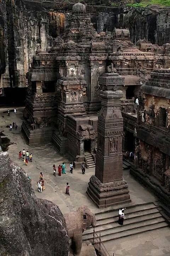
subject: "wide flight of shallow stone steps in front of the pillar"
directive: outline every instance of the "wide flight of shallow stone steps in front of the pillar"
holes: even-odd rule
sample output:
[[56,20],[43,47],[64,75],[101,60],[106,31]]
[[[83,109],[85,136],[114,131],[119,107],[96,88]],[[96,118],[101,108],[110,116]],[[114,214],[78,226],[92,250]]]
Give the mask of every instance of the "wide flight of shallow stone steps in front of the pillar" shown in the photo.
[[[101,233],[101,241],[106,242],[113,239],[135,235],[146,231],[160,229],[168,226],[168,223],[160,213],[162,208],[154,203],[139,204],[131,206],[124,211],[123,225],[118,224],[118,209],[107,210],[95,214],[97,224],[95,232]],[[83,240],[93,239],[93,228],[90,227],[83,233]]]

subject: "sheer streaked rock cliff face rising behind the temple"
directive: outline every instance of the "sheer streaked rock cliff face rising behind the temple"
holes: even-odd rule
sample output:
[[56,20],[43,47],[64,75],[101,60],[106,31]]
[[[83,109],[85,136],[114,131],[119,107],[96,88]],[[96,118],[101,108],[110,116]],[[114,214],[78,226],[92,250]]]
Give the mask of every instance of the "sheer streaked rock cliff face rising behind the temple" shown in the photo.
[[[69,2],[0,0],[0,72],[4,73],[6,65],[3,87],[27,86],[26,73],[36,50],[46,50],[53,39],[65,30],[72,9]],[[129,27],[134,43],[144,37],[159,45],[170,41],[168,7],[113,8],[87,5],[86,10],[98,33],[112,31],[114,27]]]

